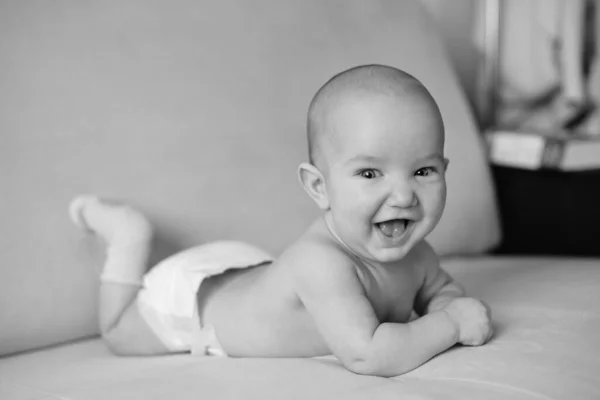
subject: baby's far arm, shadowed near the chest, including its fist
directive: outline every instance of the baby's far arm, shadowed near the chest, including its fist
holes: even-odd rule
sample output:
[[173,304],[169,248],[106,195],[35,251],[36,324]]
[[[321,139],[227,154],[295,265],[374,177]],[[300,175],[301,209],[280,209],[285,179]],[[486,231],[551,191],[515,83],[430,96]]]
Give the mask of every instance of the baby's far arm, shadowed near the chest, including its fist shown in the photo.
[[489,307],[480,300],[466,297],[462,286],[440,268],[429,244],[423,242],[418,251],[425,277],[415,299],[415,311],[420,315],[446,311],[459,327],[459,343],[479,346],[487,342],[493,334]]

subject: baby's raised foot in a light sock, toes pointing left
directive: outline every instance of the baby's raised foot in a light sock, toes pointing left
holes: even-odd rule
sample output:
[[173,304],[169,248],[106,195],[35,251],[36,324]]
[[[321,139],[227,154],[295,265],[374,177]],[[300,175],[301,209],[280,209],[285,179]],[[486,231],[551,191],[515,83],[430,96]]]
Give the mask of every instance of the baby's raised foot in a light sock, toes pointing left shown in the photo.
[[141,212],[96,196],[82,195],[71,201],[69,214],[75,225],[106,241],[108,246],[128,246],[149,242],[153,228]]

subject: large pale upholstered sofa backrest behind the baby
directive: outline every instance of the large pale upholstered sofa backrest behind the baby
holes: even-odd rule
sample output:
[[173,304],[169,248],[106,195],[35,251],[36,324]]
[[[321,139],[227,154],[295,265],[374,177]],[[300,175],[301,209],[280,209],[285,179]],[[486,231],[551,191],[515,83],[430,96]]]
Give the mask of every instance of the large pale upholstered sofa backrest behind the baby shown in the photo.
[[0,354],[94,334],[101,247],[78,193],[131,202],[157,258],[215,239],[277,254],[317,216],[296,178],[305,114],[334,73],[397,66],[447,128],[442,254],[498,239],[471,114],[429,17],[398,0],[0,4]]

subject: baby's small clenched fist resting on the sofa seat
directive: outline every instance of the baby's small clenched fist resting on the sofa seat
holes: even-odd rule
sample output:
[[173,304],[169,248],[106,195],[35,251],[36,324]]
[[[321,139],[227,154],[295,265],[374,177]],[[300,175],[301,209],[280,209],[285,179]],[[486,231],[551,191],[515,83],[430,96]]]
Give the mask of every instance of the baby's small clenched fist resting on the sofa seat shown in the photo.
[[470,297],[451,300],[444,311],[458,328],[458,342],[467,346],[480,346],[493,334],[490,309],[482,301]]

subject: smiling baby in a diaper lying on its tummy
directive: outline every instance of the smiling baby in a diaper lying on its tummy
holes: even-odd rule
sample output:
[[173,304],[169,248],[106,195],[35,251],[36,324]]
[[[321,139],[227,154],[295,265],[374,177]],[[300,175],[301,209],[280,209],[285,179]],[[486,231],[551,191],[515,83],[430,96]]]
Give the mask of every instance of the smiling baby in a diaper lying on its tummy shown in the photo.
[[425,241],[444,209],[448,165],[427,89],[387,66],[341,72],[310,104],[308,142],[299,177],[322,216],[277,260],[215,242],[144,276],[147,219],[93,196],[71,203],[74,221],[107,245],[99,318],[110,349],[334,354],[357,374],[394,376],[490,339],[489,309],[465,297]]

